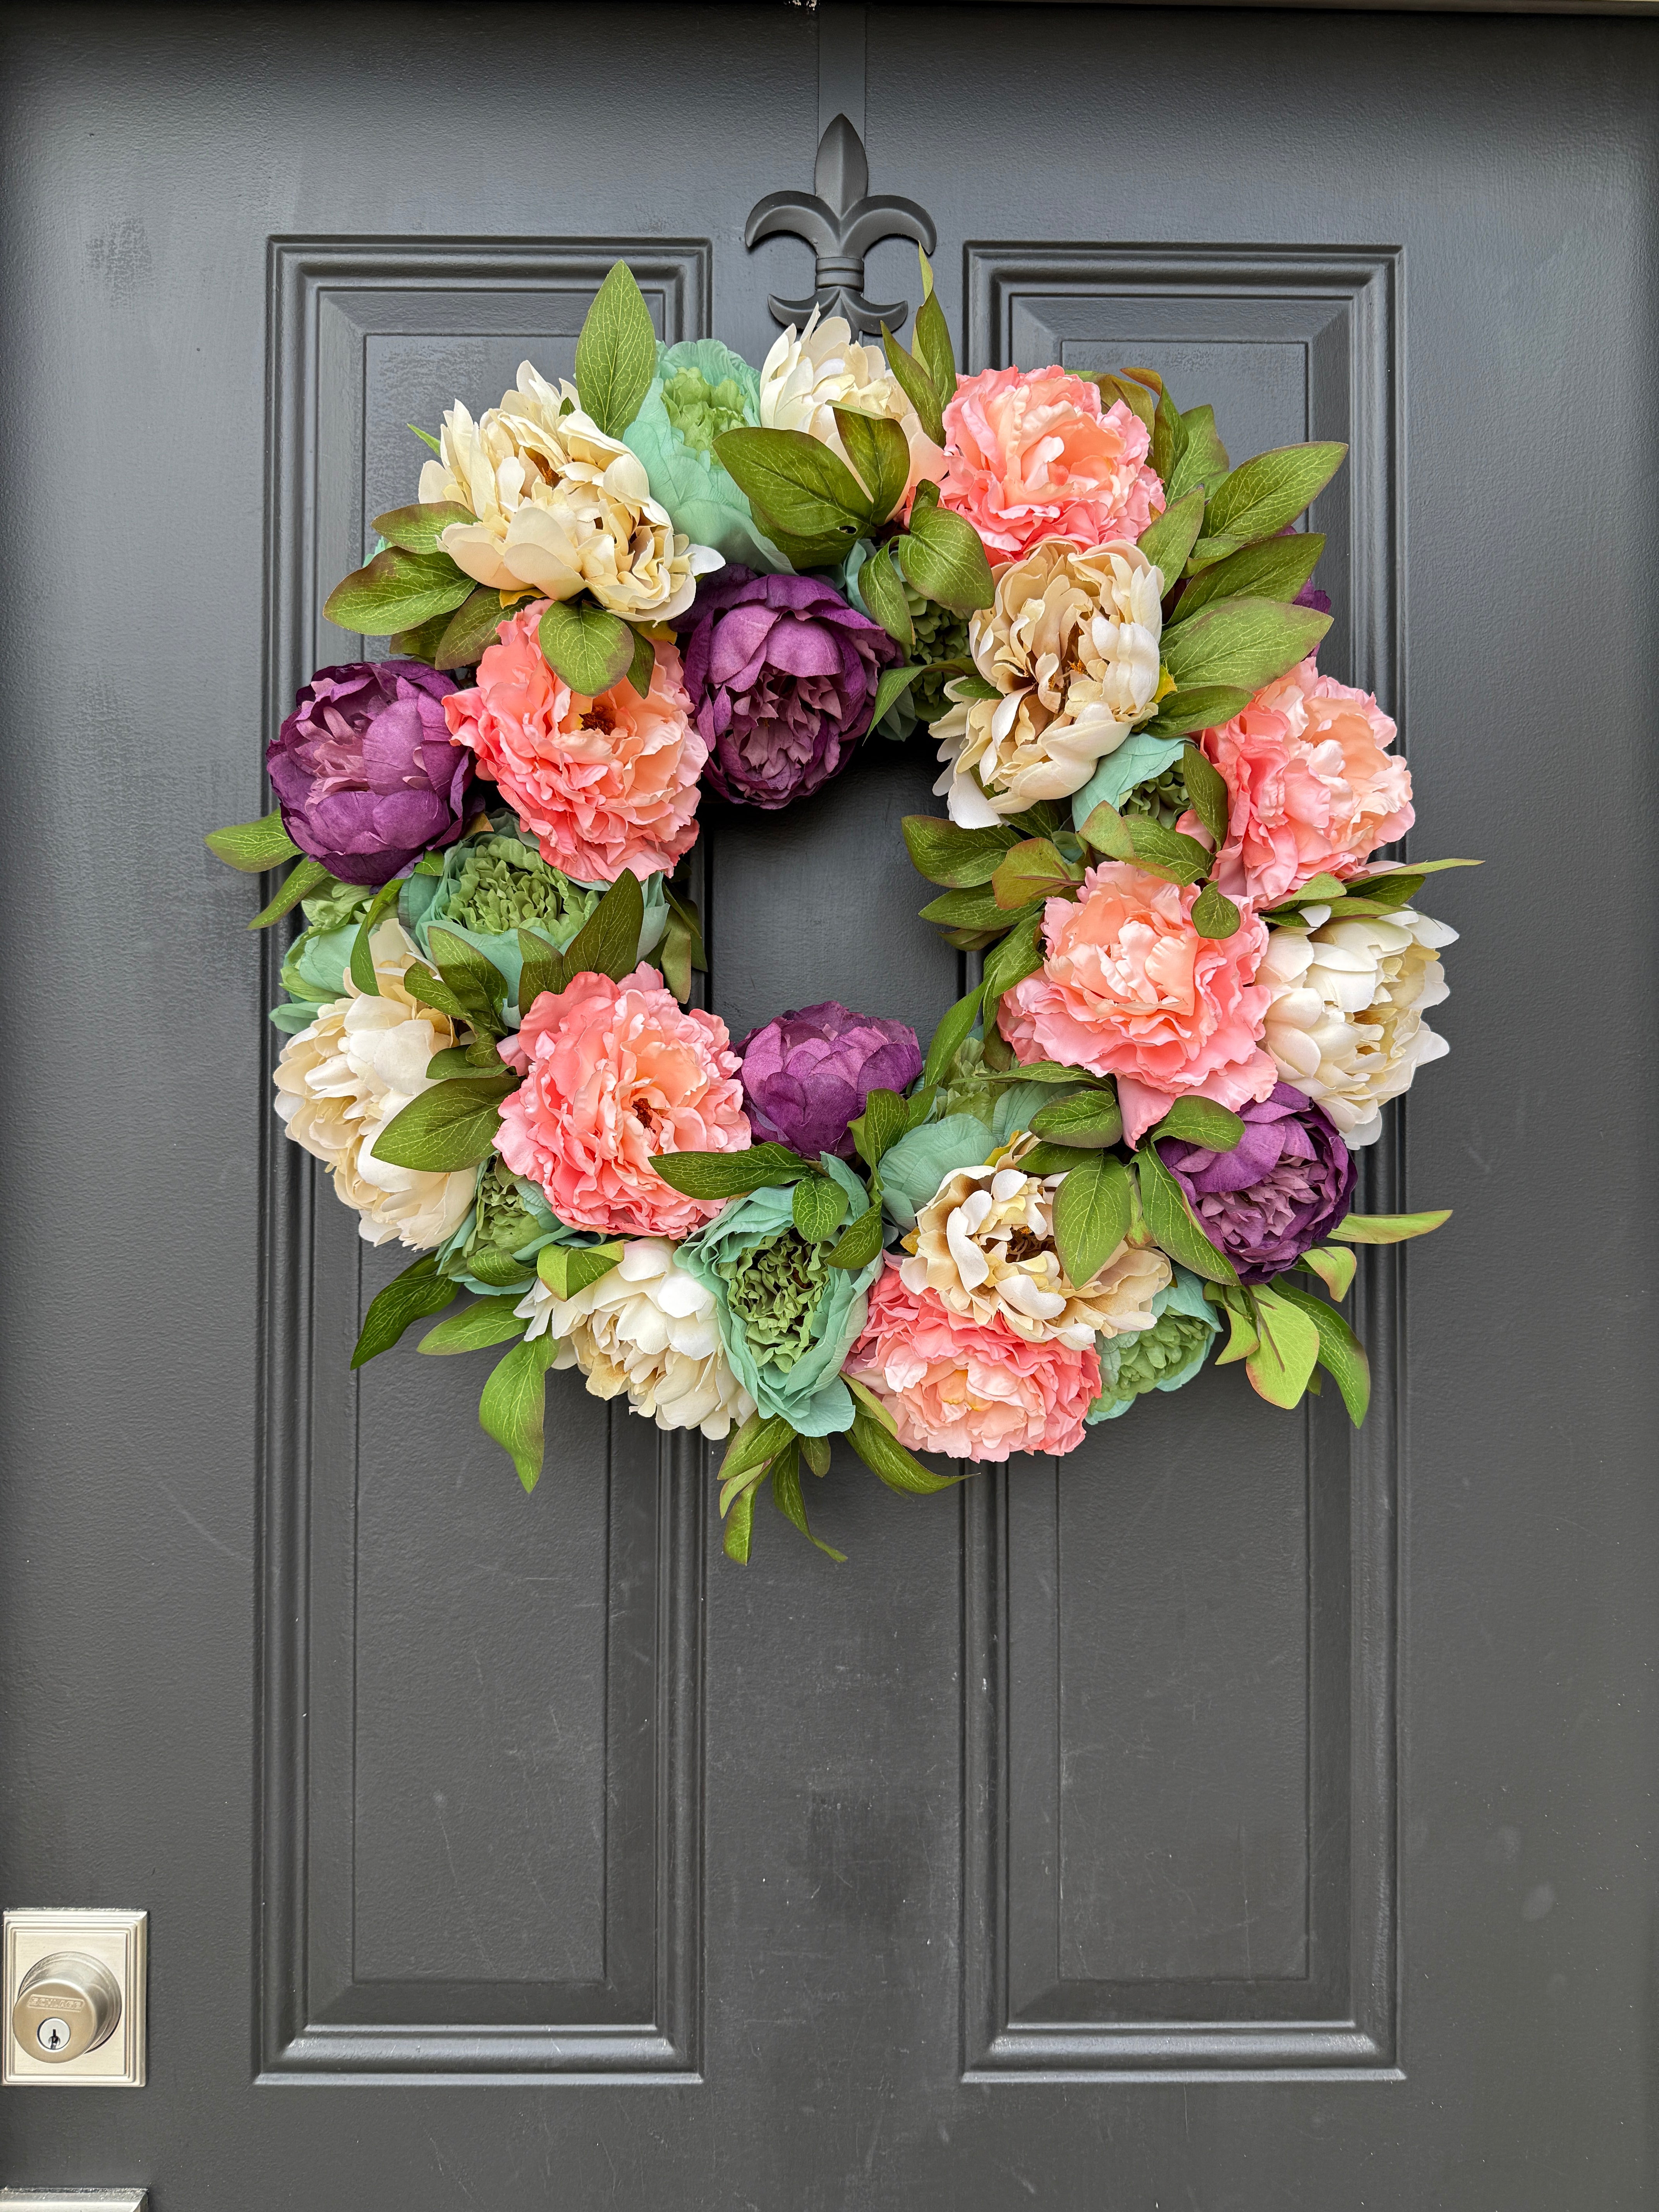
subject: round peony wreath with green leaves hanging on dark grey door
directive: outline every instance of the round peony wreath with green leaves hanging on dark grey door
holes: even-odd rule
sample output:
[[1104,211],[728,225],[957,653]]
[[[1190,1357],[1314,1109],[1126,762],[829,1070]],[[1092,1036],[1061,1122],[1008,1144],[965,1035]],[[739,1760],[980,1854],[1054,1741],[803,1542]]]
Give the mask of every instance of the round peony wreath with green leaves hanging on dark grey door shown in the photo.
[[[274,812],[208,836],[296,863],[250,925],[305,922],[276,1113],[418,1252],[352,1365],[467,1292],[420,1349],[509,1345],[478,1416],[524,1489],[577,1367],[728,1440],[734,1559],[768,1482],[812,1535],[832,1436],[940,1491],[916,1453],[1068,1453],[1212,1356],[1281,1407],[1323,1369],[1358,1425],[1356,1245],[1447,1219],[1349,1212],[1447,1051],[1411,900],[1471,863],[1374,858],[1411,776],[1316,668],[1294,531],[1345,447],[1232,467],[1150,369],[958,376],[922,288],[909,349],[814,312],[757,374],[659,345],[617,263],[575,383],[418,431],[325,606],[389,657],[319,668]],[[699,794],[785,807],[920,728],[922,918],[982,980],[927,1051],[836,1002],[732,1044],[675,874]]]

